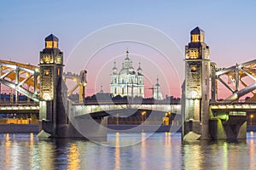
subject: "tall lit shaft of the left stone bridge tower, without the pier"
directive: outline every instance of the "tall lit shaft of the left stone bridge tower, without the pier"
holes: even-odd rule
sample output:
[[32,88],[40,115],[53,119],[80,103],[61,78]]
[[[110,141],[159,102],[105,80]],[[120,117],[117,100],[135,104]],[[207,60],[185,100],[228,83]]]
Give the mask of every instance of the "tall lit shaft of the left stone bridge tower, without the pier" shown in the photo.
[[[67,117],[60,115],[61,82],[63,72],[63,53],[58,48],[59,39],[50,34],[45,39],[45,48],[40,52],[40,120],[50,126],[44,131],[55,133],[55,125],[67,122]],[[63,111],[65,112],[65,111]],[[63,113],[62,113],[63,114]],[[65,114],[65,113],[64,113]],[[43,123],[44,125],[44,123]]]

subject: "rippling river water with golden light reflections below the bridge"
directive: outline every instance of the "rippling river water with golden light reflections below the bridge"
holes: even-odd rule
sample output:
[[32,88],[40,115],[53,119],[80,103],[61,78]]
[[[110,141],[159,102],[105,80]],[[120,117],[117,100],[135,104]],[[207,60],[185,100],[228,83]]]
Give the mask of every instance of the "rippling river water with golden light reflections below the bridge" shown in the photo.
[[[111,133],[108,143],[0,134],[1,169],[254,169],[256,133],[246,141],[181,144],[180,133]],[[141,139],[141,143],[121,147]]]

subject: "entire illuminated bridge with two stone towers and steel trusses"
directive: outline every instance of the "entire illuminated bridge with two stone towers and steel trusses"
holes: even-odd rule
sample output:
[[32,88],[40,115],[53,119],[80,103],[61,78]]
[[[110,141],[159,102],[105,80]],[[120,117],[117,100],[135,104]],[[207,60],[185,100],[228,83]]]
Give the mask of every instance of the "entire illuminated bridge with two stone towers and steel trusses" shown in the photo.
[[[40,52],[38,66],[0,59],[0,83],[15,90],[15,96],[24,94],[37,103],[19,105],[19,99],[13,101],[11,98],[10,105],[0,105],[0,112],[39,111],[42,132],[53,138],[84,137],[84,134],[87,137],[106,136],[104,126],[107,116],[121,111],[142,110],[181,114],[183,139],[189,139],[188,136],[195,133],[201,139],[245,139],[247,113],[256,110],[256,59],[218,68],[210,60],[204,31],[196,27],[190,36],[191,41],[186,46],[186,77],[181,104],[157,101],[153,105],[84,103],[87,72],[63,73],[63,53],[58,48],[59,40],[49,35],[45,38],[45,48]],[[74,82],[73,88],[67,88],[67,81]],[[219,99],[219,87],[225,88],[230,95]],[[79,90],[79,104],[68,99],[75,90]],[[241,101],[246,94],[250,97]],[[97,124],[88,117],[92,117]],[[78,130],[78,126],[93,130],[84,133]]]

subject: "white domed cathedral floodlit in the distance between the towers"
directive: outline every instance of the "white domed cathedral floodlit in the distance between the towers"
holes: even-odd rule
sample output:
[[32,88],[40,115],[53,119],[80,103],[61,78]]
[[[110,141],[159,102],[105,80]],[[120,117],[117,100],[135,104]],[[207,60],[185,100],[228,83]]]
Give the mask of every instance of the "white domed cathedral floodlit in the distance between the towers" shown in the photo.
[[134,70],[128,50],[120,71],[116,67],[116,62],[113,64],[110,93],[113,97],[116,95],[144,97],[143,69],[139,63],[137,71]]

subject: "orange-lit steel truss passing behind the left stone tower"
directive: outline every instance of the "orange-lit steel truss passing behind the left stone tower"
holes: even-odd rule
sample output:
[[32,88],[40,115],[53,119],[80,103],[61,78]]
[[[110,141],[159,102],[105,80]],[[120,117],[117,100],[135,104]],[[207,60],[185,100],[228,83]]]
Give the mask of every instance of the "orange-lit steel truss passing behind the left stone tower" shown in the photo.
[[[84,101],[84,88],[87,84],[86,73],[87,71],[81,71],[79,75],[70,72],[63,74],[64,82],[67,79],[75,82],[74,87],[67,92],[67,97],[79,88],[79,101]],[[20,92],[36,102],[39,102],[39,76],[38,66],[0,59],[0,83],[15,89],[16,92]],[[27,85],[26,88],[23,87],[24,84]],[[33,90],[28,87],[33,87]]]

